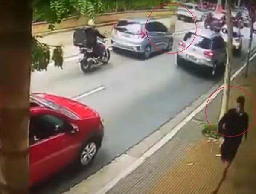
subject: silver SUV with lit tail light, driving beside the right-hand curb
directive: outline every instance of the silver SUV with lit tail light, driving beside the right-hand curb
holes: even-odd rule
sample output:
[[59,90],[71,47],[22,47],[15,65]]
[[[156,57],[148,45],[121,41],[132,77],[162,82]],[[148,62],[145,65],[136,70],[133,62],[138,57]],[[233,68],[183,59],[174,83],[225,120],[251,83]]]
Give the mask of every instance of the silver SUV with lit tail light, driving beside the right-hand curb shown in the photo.
[[[187,32],[180,41],[178,51],[185,49],[192,42],[194,32]],[[184,51],[177,53],[177,65],[185,61],[192,62],[202,67],[209,67],[212,75],[216,75],[217,70],[224,69],[226,64],[226,44],[220,34],[210,30],[202,30],[197,33],[193,43]]]

